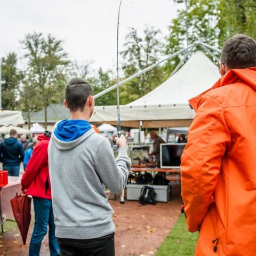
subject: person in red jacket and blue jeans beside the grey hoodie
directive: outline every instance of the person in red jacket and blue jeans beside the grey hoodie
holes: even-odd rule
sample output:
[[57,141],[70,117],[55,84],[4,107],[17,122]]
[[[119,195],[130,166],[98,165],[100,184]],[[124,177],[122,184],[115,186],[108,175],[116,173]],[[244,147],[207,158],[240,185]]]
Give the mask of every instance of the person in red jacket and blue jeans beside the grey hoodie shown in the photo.
[[37,138],[39,141],[22,176],[21,187],[27,195],[33,196],[35,210],[35,226],[29,245],[29,256],[39,256],[41,243],[49,226],[49,248],[51,256],[60,255],[59,245],[55,237],[55,225],[52,210],[51,182],[48,167],[47,148],[51,137],[44,132]]

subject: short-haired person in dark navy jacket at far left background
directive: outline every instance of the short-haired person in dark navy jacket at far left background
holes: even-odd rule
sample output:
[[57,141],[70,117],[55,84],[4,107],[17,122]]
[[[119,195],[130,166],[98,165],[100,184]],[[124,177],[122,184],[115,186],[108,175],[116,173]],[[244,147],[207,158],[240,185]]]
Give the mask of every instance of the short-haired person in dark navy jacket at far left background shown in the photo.
[[19,176],[24,149],[18,141],[18,134],[15,129],[11,129],[10,137],[0,144],[0,157],[3,170],[8,171],[9,176]]

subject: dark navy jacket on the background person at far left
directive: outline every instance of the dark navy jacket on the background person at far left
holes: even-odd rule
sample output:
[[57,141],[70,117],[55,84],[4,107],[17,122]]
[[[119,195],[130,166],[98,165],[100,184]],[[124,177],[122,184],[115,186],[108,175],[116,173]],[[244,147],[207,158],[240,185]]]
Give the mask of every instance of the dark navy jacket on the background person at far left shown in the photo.
[[9,137],[1,143],[0,155],[3,165],[16,166],[23,161],[24,149],[16,138]]

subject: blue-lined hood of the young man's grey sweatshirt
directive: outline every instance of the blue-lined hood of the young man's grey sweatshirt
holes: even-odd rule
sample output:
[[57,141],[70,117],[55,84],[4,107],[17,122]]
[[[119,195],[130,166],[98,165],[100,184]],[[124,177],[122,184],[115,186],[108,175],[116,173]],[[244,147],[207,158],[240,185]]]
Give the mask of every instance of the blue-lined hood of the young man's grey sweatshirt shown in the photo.
[[52,139],[58,149],[68,150],[79,145],[93,133],[89,122],[65,119],[55,125]]

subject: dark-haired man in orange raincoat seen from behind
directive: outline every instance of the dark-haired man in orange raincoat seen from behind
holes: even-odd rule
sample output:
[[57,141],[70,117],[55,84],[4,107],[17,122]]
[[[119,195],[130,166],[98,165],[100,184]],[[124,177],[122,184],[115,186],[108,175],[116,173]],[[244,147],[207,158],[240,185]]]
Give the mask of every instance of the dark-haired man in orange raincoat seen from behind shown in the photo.
[[256,42],[238,34],[222,48],[222,77],[191,99],[196,116],[181,157],[195,255],[256,255]]

